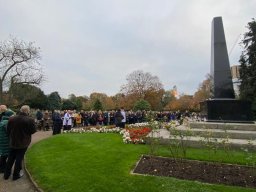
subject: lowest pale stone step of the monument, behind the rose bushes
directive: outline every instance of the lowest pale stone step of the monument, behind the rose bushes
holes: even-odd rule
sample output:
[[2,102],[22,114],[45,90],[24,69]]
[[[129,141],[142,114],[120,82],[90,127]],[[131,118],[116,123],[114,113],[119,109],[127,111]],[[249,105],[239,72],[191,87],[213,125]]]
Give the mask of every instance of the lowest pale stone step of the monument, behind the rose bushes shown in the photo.
[[[180,136],[170,136],[170,132],[166,129],[160,129],[156,132],[151,132],[148,135],[147,142],[150,142],[151,138],[159,138],[160,144],[170,144],[170,141],[181,141]],[[204,138],[200,136],[183,136],[182,141],[186,146],[190,147],[206,147],[209,144],[214,144],[219,148],[232,148],[232,149],[248,149],[256,150],[256,140],[246,140],[246,139],[226,139],[226,138]],[[208,143],[207,143],[208,142]]]

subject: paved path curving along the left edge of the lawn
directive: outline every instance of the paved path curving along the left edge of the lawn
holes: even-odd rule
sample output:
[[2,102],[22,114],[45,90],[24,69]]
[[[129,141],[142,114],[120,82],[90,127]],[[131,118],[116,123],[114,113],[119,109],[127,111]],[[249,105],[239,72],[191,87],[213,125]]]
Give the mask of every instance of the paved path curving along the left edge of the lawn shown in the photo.
[[[30,146],[42,139],[52,135],[52,131],[38,131],[32,136]],[[0,174],[0,192],[38,192],[29,176],[24,171],[24,176],[16,181],[12,180],[12,176],[8,180],[3,179],[3,174]]]

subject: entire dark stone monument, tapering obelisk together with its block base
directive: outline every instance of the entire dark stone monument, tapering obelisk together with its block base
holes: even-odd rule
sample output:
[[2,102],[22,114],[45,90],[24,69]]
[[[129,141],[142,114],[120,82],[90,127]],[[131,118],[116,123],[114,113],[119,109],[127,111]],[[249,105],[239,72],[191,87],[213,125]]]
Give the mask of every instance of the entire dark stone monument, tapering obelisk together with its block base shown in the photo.
[[213,96],[200,105],[201,112],[207,121],[252,121],[250,102],[235,99],[221,17],[215,17],[212,20],[211,77]]

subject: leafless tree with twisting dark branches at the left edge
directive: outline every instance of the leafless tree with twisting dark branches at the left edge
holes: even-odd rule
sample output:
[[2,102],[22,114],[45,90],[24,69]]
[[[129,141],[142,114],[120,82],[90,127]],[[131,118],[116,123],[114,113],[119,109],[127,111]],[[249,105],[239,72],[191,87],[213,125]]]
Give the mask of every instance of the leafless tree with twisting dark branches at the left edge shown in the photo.
[[40,48],[16,38],[0,42],[0,101],[3,92],[16,84],[39,85],[43,80]]

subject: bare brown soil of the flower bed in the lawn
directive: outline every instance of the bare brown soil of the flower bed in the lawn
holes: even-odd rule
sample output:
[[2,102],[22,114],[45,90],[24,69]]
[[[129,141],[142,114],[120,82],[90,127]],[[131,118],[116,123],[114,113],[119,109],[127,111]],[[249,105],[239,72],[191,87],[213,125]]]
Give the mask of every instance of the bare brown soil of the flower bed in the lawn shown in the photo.
[[256,168],[242,165],[142,156],[134,173],[256,188]]

